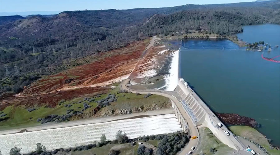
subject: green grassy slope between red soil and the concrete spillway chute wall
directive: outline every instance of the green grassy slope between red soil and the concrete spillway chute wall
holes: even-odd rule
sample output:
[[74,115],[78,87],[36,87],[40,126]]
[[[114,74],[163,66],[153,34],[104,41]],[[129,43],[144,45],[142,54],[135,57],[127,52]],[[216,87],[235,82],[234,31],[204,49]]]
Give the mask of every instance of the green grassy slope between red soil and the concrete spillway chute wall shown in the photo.
[[[56,77],[58,78],[58,77]],[[109,94],[116,94],[116,96],[119,96],[118,100],[115,102],[111,102],[111,105],[107,107],[103,107],[100,111],[108,110],[108,109],[116,109],[116,108],[133,108],[133,107],[139,107],[146,104],[161,104],[166,101],[169,101],[166,97],[160,96],[160,95],[152,95],[148,98],[144,98],[144,94],[136,95],[134,93],[119,93],[119,88],[115,87],[114,89],[108,91],[106,94],[100,95],[98,98],[94,98],[94,101],[83,101],[84,97],[91,98],[92,95],[86,95],[83,97],[78,97],[73,100],[67,100],[63,103],[60,103],[61,105],[58,105],[54,108],[48,108],[46,106],[41,107],[35,107],[36,110],[32,112],[28,112],[27,109],[31,107],[25,107],[25,106],[18,106],[13,107],[9,106],[2,110],[1,112],[6,113],[7,115],[4,117],[10,117],[8,120],[2,121],[0,124],[0,130],[9,130],[9,129],[15,129],[15,128],[21,128],[21,127],[30,127],[30,126],[36,126],[40,125],[40,122],[37,122],[38,118],[43,118],[45,116],[51,115],[51,114],[57,114],[57,115],[63,115],[67,113],[68,109],[74,109],[76,111],[81,111],[83,108],[83,104],[87,103],[91,105],[91,108],[88,108],[84,111],[84,114],[87,112],[90,112],[93,108],[97,106],[96,101],[101,100],[105,97],[107,97]],[[125,96],[124,96],[125,95]],[[79,101],[82,101],[81,103],[78,103]],[[61,102],[61,101],[59,101]],[[76,102],[76,104],[72,104],[73,102]],[[71,104],[72,106],[64,107],[65,104]],[[81,108],[78,108],[81,107]],[[145,111],[145,109],[144,109]],[[2,117],[2,118],[4,118]],[[74,118],[73,118],[74,119]]]

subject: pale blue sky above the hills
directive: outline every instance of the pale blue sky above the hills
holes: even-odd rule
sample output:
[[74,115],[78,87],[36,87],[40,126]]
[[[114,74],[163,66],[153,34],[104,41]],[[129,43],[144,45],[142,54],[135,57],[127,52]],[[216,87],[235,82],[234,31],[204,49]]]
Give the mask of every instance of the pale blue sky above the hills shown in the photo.
[[252,1],[254,0],[0,0],[0,12],[131,9]]

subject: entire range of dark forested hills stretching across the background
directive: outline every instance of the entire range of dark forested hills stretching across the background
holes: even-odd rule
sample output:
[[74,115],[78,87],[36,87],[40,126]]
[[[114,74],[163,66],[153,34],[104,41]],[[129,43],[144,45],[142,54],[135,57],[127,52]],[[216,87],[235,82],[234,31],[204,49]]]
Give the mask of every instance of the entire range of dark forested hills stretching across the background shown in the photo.
[[204,30],[228,36],[243,25],[279,24],[279,8],[279,1],[267,1],[0,17],[0,93],[20,92],[44,74],[80,65],[71,60],[153,35]]

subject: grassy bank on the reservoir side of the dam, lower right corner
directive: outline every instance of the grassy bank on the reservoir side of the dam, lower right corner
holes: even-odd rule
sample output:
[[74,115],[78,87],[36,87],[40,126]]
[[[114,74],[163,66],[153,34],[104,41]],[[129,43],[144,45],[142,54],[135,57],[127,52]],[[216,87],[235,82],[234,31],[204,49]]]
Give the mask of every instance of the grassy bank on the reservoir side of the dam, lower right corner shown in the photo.
[[254,129],[250,126],[230,126],[229,128],[234,134],[240,135],[242,137],[246,137],[246,138],[260,144],[261,146],[266,148],[266,150],[270,154],[272,154],[272,155],[280,154],[279,150],[269,149],[270,145],[269,145],[267,139],[264,137],[263,134],[259,133],[259,131],[257,131],[256,129]]

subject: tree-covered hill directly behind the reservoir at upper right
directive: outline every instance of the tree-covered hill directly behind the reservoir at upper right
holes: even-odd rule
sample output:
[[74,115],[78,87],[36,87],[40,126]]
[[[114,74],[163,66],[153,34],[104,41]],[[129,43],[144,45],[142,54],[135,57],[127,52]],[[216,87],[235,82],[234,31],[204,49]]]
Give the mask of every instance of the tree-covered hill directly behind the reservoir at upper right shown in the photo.
[[[150,35],[174,32],[187,33],[188,30],[206,30],[223,37],[240,33],[242,26],[252,24],[279,24],[279,10],[256,8],[205,9],[180,11],[170,15],[156,15],[147,23]],[[143,29],[144,31],[147,29]]]

